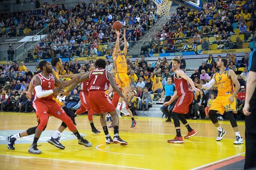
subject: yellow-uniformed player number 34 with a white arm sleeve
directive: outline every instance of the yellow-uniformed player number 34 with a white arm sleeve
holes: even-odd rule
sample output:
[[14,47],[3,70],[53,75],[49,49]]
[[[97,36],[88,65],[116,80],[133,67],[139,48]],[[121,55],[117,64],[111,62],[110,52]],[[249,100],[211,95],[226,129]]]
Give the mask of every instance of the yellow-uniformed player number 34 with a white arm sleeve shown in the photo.
[[[199,88],[209,89],[212,85],[215,84],[215,82],[217,83],[218,95],[214,103],[211,105],[209,111],[209,117],[218,130],[218,137],[216,140],[220,141],[227,132],[223,128],[221,128],[215,114],[219,112],[223,115],[223,113],[226,111],[227,117],[229,118],[229,121],[236,133],[236,140],[234,141],[234,144],[242,144],[244,142],[242,137],[240,136],[237,122],[233,115],[233,112],[237,113],[235,97],[240,89],[240,84],[237,80],[235,72],[231,69],[226,68],[226,66],[227,60],[225,58],[218,59],[217,68],[219,69],[219,72],[215,73],[212,76],[211,81],[204,85],[196,83],[194,84]],[[236,86],[235,88],[234,85]]]

